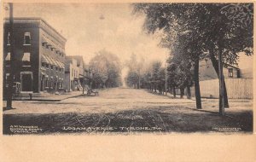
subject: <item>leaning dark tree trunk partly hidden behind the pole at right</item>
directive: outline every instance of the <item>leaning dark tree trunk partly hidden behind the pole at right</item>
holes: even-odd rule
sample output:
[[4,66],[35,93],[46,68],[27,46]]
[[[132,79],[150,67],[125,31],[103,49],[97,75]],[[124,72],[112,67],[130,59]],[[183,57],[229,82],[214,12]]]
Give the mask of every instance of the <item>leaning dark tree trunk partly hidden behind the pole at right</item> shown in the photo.
[[[217,73],[218,78],[219,78],[218,61],[216,60],[216,58],[214,56],[213,49],[210,49],[209,51],[210,51],[210,53],[209,53],[210,54],[210,59],[212,61],[212,67],[214,68],[214,70]],[[230,107],[225,81],[224,81],[224,107],[226,107],[226,108]]]

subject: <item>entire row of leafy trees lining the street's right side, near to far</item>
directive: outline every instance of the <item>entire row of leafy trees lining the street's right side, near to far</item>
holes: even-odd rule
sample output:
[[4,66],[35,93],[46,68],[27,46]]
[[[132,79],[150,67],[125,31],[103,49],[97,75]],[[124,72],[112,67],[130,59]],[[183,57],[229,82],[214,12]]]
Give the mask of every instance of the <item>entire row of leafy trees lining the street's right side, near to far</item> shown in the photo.
[[[212,61],[219,79],[219,113],[224,115],[229,102],[223,67],[236,65],[238,53],[253,55],[253,3],[135,3],[133,7],[134,14],[146,16],[144,30],[161,32],[160,46],[170,49],[168,88],[183,92],[194,84],[198,109],[202,108],[199,62]],[[153,62],[143,74],[142,66],[137,67],[130,67],[128,85],[164,89],[165,70],[160,62]]]

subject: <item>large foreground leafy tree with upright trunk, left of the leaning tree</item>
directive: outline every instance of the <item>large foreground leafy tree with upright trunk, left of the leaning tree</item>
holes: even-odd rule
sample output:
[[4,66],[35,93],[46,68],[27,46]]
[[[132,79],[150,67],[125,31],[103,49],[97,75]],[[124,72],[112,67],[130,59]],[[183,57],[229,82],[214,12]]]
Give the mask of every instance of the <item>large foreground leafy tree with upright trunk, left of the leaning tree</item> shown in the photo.
[[134,13],[146,14],[144,29],[148,33],[161,31],[166,34],[160,44],[163,47],[173,49],[178,41],[183,43],[183,49],[189,49],[190,61],[194,62],[195,97],[196,107],[201,108],[201,94],[199,86],[199,61],[203,56],[201,48],[200,22],[196,19],[201,15],[201,5],[195,3],[137,3],[134,4]]

